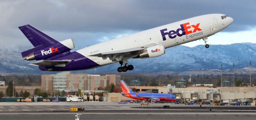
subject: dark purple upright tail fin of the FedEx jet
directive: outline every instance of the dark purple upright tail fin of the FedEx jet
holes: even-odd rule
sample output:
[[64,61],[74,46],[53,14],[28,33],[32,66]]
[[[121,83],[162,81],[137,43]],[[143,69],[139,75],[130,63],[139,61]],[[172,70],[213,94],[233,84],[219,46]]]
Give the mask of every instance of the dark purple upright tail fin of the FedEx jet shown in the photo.
[[58,43],[57,40],[54,40],[50,36],[44,34],[40,30],[37,30],[36,28],[34,28],[29,24],[20,26],[18,28],[22,31],[22,33],[26,36],[26,38],[28,38],[31,44],[35,47],[30,50],[22,52],[21,54],[23,58],[33,53],[36,50],[40,50],[47,46],[51,46],[53,44]]

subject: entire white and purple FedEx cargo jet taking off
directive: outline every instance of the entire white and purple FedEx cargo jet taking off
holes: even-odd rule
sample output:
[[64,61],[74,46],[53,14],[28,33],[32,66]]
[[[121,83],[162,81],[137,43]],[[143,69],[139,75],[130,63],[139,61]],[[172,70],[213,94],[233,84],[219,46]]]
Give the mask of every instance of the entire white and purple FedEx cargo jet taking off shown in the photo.
[[[44,71],[87,70],[120,63],[118,72],[133,70],[130,58],[153,58],[165,49],[212,36],[228,27],[233,19],[225,14],[206,14],[166,24],[121,38],[95,44],[74,52],[72,39],[57,41],[31,25],[18,27],[34,48],[22,52],[24,60],[41,60],[32,64]],[[209,45],[205,45],[209,48]],[[175,52],[175,51],[174,51]]]

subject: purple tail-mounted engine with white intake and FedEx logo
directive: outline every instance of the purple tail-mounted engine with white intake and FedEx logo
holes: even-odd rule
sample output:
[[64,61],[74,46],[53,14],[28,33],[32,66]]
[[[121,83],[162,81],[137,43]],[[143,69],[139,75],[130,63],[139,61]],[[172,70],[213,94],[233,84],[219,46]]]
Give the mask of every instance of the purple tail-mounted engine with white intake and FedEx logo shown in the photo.
[[42,48],[41,50],[36,50],[28,55],[25,60],[44,60],[74,48],[75,46],[73,40],[67,39],[60,41],[52,46]]

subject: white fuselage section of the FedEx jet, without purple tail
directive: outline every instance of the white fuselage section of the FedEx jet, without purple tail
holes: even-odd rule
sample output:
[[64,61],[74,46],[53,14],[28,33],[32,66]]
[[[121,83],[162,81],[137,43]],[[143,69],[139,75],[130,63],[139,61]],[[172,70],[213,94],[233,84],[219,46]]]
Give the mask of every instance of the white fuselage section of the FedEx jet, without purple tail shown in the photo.
[[[106,42],[102,42],[99,44],[95,44],[95,45],[77,50],[76,52],[82,54],[83,56],[86,56],[87,58],[96,62],[100,66],[104,66],[117,61],[112,61],[109,58],[103,59],[102,57],[96,57],[96,56],[90,56],[90,55],[102,53],[102,52],[112,52],[112,51],[136,48],[136,47],[144,46],[150,43],[162,44],[164,48],[170,48],[170,47],[184,44],[187,42],[192,42],[194,40],[206,38],[208,36],[211,36],[219,32],[220,30],[223,30],[233,22],[232,18],[226,17],[225,19],[222,19],[221,16],[224,16],[224,14],[206,14],[202,16],[196,16],[186,20],[181,20],[171,24],[166,24],[163,26],[159,26],[159,27],[138,32],[135,34],[131,34],[131,35],[123,36],[113,40],[109,40]],[[184,24],[183,26],[186,27],[185,35],[178,36],[174,32],[170,32],[171,30],[177,31],[177,29],[181,28],[181,24]],[[164,30],[164,29],[167,29],[167,30]],[[160,30],[162,30],[162,32],[165,32],[165,33],[170,32],[169,33],[170,35],[166,33],[167,34],[165,35],[166,40],[164,40]],[[179,34],[182,34],[182,30],[179,31]],[[174,38],[175,35],[176,37]]]

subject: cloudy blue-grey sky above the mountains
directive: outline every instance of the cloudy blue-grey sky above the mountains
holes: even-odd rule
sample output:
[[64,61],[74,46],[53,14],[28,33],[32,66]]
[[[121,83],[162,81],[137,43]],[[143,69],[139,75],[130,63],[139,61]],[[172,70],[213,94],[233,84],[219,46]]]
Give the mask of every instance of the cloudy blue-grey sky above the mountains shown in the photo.
[[[32,46],[19,26],[30,24],[56,40],[90,46],[203,14],[221,13],[231,26],[208,44],[256,43],[255,0],[0,0],[2,45]],[[184,44],[196,46],[204,42]]]

